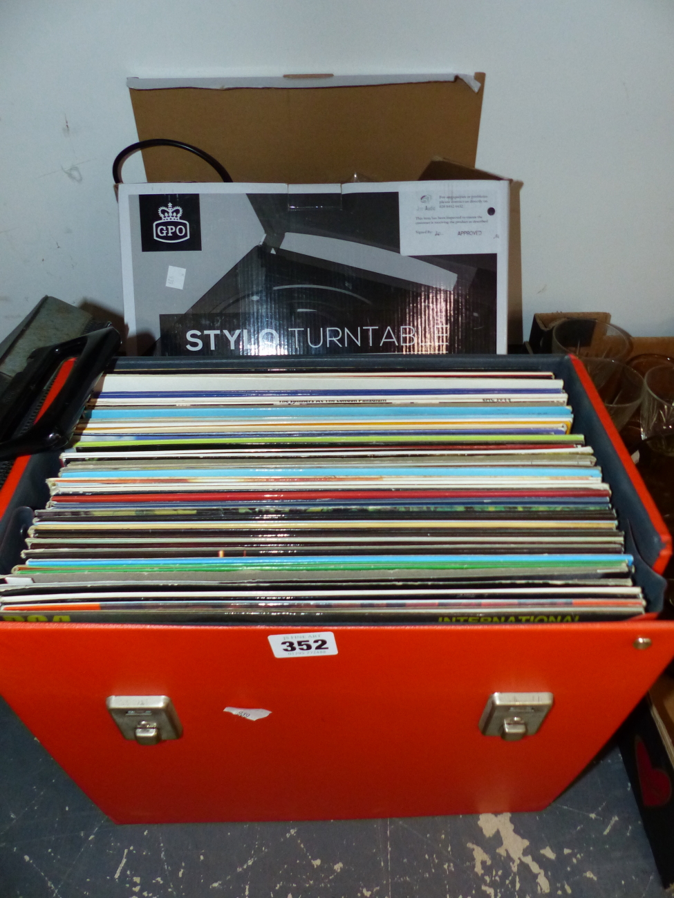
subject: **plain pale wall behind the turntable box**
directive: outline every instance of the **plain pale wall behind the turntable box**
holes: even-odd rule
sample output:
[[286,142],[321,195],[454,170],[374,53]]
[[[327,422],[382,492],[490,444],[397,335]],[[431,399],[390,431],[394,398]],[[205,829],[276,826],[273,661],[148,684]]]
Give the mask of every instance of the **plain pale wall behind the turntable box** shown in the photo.
[[0,337],[46,293],[121,310],[128,75],[442,69],[487,73],[478,166],[524,182],[525,334],[674,334],[673,48],[671,0],[2,0]]

